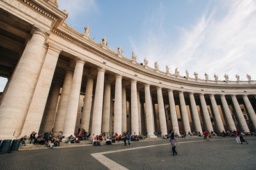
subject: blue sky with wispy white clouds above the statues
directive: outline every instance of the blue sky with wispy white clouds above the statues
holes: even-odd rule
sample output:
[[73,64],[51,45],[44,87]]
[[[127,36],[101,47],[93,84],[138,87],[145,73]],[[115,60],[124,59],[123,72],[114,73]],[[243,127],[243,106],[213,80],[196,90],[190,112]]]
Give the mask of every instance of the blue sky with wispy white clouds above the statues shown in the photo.
[[[165,71],[175,67],[181,75],[204,79],[204,74],[220,80],[256,79],[256,1],[253,0],[59,0],[60,10],[69,13],[70,27],[84,32],[100,43],[104,36],[108,48],[121,46],[123,55]],[[1,86],[1,85],[0,85]],[[0,89],[1,90],[1,89]]]

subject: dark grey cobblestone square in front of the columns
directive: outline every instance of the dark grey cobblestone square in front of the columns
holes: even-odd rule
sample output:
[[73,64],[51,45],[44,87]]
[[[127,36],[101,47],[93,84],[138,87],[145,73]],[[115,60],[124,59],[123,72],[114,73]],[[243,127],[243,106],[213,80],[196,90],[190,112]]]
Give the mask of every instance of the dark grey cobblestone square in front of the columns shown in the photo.
[[[178,155],[172,156],[168,140],[117,145],[79,146],[28,150],[0,155],[1,169],[106,169],[92,157],[104,157],[127,169],[255,169],[256,138],[244,138],[248,145],[239,145],[235,138],[178,139]],[[109,167],[115,169],[115,166]]]

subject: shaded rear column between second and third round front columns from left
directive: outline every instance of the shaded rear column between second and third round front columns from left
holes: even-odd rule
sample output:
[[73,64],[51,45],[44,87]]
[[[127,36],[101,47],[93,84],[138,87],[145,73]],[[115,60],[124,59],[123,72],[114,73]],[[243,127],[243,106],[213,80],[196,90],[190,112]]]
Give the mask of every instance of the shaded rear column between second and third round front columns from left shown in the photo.
[[84,105],[82,113],[81,128],[89,132],[90,116],[92,110],[92,91],[93,91],[93,77],[87,76],[86,89],[84,95]]

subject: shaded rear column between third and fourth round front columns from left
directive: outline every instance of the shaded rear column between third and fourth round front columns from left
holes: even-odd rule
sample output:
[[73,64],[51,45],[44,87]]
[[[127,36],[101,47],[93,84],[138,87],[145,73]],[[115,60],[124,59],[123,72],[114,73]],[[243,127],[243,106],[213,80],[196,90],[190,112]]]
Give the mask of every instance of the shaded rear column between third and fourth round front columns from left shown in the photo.
[[106,81],[102,115],[102,132],[109,132],[111,82]]

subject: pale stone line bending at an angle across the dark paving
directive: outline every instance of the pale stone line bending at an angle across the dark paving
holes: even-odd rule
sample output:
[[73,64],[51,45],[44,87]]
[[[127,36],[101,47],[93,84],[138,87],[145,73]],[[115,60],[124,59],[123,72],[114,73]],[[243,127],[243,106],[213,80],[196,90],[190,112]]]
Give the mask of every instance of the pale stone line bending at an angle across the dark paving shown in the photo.
[[[228,139],[211,139],[211,141],[221,141],[221,140],[234,140],[233,138],[228,138]],[[246,138],[250,139],[250,138]],[[194,142],[202,142],[204,140],[196,140],[196,141],[183,141],[179,142],[179,144],[182,143],[194,143]],[[137,148],[127,148],[127,149],[122,149],[122,150],[111,150],[107,152],[99,152],[99,153],[92,153],[91,156],[98,160],[100,163],[102,163],[104,166],[108,167],[108,169],[127,169],[124,166],[121,166],[120,164],[116,163],[115,161],[109,159],[108,157],[105,157],[104,154],[109,154],[109,153],[116,153],[116,152],[125,152],[125,151],[130,151],[130,150],[140,150],[144,148],[152,148],[156,146],[164,146],[164,145],[170,145],[170,143],[165,143],[165,144],[159,144],[159,145],[150,145],[150,146],[140,146]]]

